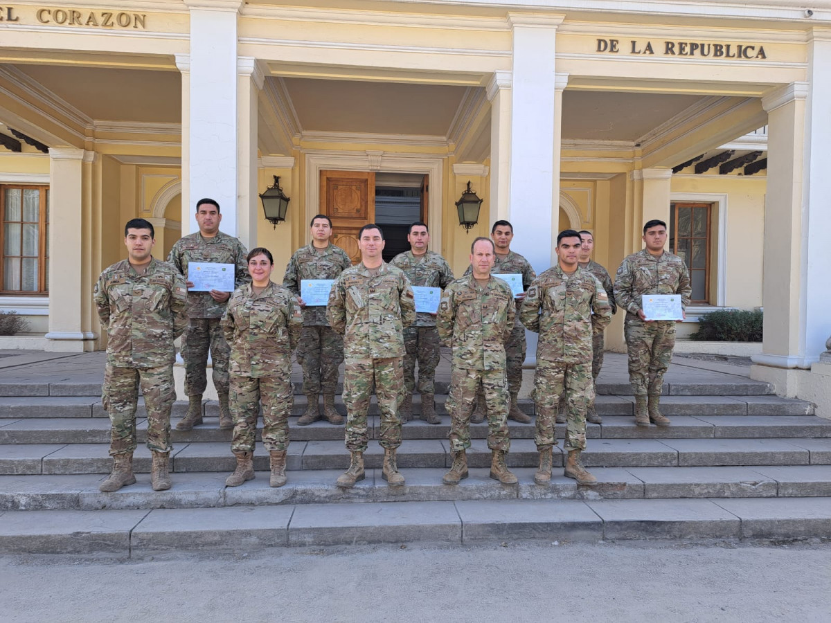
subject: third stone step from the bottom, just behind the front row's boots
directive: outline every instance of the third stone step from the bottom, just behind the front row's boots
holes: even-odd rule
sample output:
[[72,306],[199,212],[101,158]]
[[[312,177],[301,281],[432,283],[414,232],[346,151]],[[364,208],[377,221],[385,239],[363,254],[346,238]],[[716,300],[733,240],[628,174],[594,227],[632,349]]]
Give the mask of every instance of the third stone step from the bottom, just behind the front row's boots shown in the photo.
[[[3,444],[0,474],[109,473],[109,444]],[[490,464],[485,439],[472,439],[468,452],[471,467]],[[371,441],[366,450],[367,468],[380,468],[383,450]],[[401,468],[442,468],[452,462],[446,439],[408,439],[398,450]],[[288,449],[288,469],[345,469],[349,453],[340,439],[294,441]],[[583,452],[587,467],[720,467],[730,465],[829,465],[831,438],[750,439],[592,439]],[[562,465],[561,446],[554,449],[555,465]],[[533,439],[513,439],[507,462],[510,467],[534,467],[538,452]],[[228,442],[200,442],[174,446],[171,467],[177,473],[224,472],[234,468]],[[258,444],[254,466],[266,469],[268,454]],[[150,451],[139,445],[135,453],[137,473],[150,470]]]

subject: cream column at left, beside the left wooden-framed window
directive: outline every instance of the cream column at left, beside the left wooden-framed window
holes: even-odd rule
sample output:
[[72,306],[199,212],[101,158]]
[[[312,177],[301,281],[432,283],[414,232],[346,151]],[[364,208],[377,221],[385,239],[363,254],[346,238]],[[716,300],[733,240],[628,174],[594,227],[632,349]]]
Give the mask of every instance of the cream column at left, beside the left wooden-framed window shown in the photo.
[[[91,162],[95,153],[49,150],[49,332],[47,351],[91,351]],[[86,167],[86,175],[85,175]]]

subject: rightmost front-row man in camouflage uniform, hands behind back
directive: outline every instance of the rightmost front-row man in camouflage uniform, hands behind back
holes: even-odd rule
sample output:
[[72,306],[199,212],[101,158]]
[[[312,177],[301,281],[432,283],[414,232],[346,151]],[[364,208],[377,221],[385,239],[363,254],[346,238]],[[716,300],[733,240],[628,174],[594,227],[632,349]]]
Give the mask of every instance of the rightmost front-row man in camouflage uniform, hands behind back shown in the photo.
[[578,484],[597,483],[580,463],[580,453],[586,449],[586,410],[594,401],[592,338],[612,320],[612,307],[602,283],[578,265],[581,243],[573,229],[559,233],[557,266],[534,280],[519,312],[529,331],[539,333],[534,375],[537,484],[551,482],[552,449],[557,445],[554,418],[563,391],[568,405],[564,473]]

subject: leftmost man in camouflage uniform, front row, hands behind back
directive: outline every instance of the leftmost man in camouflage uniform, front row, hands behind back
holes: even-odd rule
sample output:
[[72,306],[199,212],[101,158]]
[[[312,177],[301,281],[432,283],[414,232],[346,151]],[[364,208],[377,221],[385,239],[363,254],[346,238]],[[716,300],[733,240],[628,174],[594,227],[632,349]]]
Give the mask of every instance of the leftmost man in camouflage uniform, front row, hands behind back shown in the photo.
[[139,387],[147,410],[147,447],[153,453],[153,489],[170,488],[170,408],[176,400],[173,341],[188,324],[184,279],[150,255],[153,225],[134,218],[124,228],[127,259],[106,268],[95,287],[101,328],[107,333],[101,402],[110,415],[113,469],[99,487],[117,491],[135,483],[135,410]]

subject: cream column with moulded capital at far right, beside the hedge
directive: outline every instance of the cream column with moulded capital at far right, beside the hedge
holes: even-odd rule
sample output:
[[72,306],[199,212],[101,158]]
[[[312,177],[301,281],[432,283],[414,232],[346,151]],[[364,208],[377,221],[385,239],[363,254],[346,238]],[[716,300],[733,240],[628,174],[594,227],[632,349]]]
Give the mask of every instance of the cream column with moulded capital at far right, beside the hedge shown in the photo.
[[[808,250],[808,230],[803,222],[804,176],[809,171],[809,163],[803,162],[809,143],[805,140],[807,95],[808,84],[794,82],[762,99],[768,111],[762,281],[765,322],[762,353],[753,361],[779,368],[795,368],[804,357],[800,334],[804,334],[804,252]],[[824,280],[824,287],[827,283]]]

